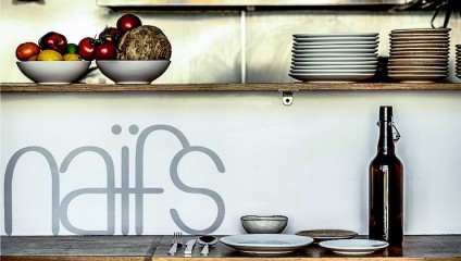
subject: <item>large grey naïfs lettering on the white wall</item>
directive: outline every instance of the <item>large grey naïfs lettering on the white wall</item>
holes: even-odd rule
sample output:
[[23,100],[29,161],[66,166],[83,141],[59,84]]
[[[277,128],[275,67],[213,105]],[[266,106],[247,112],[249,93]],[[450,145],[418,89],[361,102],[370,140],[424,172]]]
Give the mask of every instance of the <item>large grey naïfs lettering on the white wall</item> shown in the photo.
[[[171,209],[171,215],[175,224],[186,233],[189,234],[211,234],[216,231],[224,221],[225,216],[225,204],[221,196],[207,188],[195,188],[184,184],[178,176],[177,166],[180,160],[190,152],[201,152],[210,157],[213,160],[214,164],[219,172],[224,173],[225,167],[220,157],[212,150],[200,147],[200,146],[190,146],[187,138],[184,134],[172,126],[169,125],[152,125],[144,129],[137,139],[136,142],[136,154],[135,154],[135,188],[129,187],[129,148],[123,146],[121,149],[121,176],[122,185],[121,188],[115,187],[115,170],[112,157],[104,149],[96,146],[84,146],[72,150],[63,160],[61,169],[58,169],[58,163],[50,151],[42,147],[30,146],[25,147],[16,151],[10,161],[7,164],[5,175],[4,175],[4,229],[7,235],[13,233],[13,174],[14,169],[18,160],[28,152],[37,152],[47,160],[48,166],[51,172],[52,181],[52,191],[51,191],[51,209],[52,209],[52,219],[51,227],[52,234],[58,235],[60,229],[60,224],[62,224],[68,232],[77,235],[113,235],[115,233],[115,195],[120,194],[122,198],[122,234],[127,235],[129,233],[129,195],[135,195],[135,227],[136,234],[141,235],[144,232],[144,195],[145,194],[162,194],[163,188],[145,188],[144,187],[144,152],[145,144],[147,138],[157,130],[169,132],[176,136],[182,145],[182,149],[176,153],[172,159],[170,165],[170,175],[173,184],[182,191],[189,194],[202,194],[210,197],[217,207],[217,215],[208,228],[199,231],[194,229],[187,226],[182,219],[179,217],[178,212],[175,209]],[[130,125],[128,132],[132,135],[137,135],[139,133],[139,127],[137,125]],[[114,135],[120,135],[122,133],[122,127],[120,125],[112,126],[112,133]],[[73,160],[83,153],[96,153],[102,159],[102,162],[105,165],[105,175],[107,175],[107,187],[103,188],[80,188],[73,190],[64,196],[60,202],[60,177],[59,173],[67,172],[68,167]],[[74,166],[78,167],[78,166]],[[107,196],[107,228],[101,231],[89,231],[74,226],[68,219],[68,206],[72,200],[82,195],[105,195]]]

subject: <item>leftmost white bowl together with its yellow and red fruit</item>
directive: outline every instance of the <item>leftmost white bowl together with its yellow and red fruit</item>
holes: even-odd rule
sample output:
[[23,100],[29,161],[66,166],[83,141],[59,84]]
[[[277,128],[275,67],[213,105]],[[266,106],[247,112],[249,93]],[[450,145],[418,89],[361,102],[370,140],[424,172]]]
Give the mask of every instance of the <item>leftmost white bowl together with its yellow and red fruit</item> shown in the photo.
[[37,84],[72,84],[84,76],[90,61],[83,61],[77,47],[54,32],[42,36],[38,45],[23,42],[16,48],[20,71]]

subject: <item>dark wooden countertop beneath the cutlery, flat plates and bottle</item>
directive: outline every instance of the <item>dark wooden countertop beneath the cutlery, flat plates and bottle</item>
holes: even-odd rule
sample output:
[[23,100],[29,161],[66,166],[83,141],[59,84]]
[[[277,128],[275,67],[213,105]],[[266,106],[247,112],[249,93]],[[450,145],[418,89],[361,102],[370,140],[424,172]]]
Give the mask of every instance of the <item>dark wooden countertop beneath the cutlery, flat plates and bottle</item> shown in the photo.
[[[192,236],[186,236],[184,241]],[[195,238],[195,237],[194,237]],[[72,261],[136,261],[136,260],[228,260],[228,261],[460,261],[461,235],[406,236],[402,247],[389,247],[366,256],[334,253],[310,245],[292,253],[275,257],[248,256],[219,243],[210,256],[200,256],[196,245],[192,257],[184,257],[184,248],[167,256],[172,236],[2,236],[2,261],[72,260]]]

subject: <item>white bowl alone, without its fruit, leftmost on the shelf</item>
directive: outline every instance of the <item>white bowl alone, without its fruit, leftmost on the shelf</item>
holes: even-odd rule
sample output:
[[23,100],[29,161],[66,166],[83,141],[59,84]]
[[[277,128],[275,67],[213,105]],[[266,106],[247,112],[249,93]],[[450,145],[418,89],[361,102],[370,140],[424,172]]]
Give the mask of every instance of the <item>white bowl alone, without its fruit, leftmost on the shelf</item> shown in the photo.
[[20,71],[37,84],[72,84],[88,72],[89,61],[16,62]]

